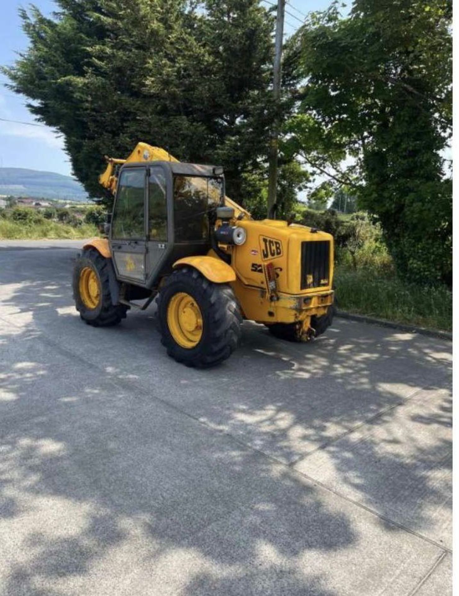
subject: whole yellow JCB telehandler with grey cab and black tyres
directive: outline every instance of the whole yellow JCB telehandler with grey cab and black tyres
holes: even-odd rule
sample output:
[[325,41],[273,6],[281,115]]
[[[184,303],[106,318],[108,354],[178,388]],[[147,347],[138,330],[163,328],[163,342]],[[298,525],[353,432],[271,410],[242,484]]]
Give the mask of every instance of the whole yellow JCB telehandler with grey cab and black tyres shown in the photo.
[[100,182],[115,195],[107,238],[86,243],[73,272],[86,323],[116,325],[157,297],[169,356],[196,367],[231,355],[243,319],[291,341],[331,324],[330,234],[254,221],[225,195],[222,167],[181,163],[142,142],[128,159],[107,160]]

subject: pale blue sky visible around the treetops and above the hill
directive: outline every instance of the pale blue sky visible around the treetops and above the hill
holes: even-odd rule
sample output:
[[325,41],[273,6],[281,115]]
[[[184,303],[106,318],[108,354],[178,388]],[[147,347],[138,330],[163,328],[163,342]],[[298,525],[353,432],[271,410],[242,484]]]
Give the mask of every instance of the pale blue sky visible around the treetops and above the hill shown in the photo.
[[[268,4],[275,0],[263,0]],[[331,0],[288,0],[286,5],[286,23],[284,30],[289,35],[300,26],[302,13],[323,10]],[[35,0],[33,4],[42,13],[49,14],[55,4],[51,0]],[[27,3],[14,0],[2,3],[0,20],[0,64],[10,65],[16,58],[16,52],[27,48],[27,38],[21,30],[18,8],[27,7]],[[0,75],[0,118],[33,123],[32,114],[25,107],[26,98],[14,94],[5,88],[7,79]],[[144,139],[148,141],[148,139]],[[71,167],[69,157],[63,150],[63,139],[46,126],[27,126],[0,120],[0,167],[28,167],[34,170],[48,170],[69,175]]]

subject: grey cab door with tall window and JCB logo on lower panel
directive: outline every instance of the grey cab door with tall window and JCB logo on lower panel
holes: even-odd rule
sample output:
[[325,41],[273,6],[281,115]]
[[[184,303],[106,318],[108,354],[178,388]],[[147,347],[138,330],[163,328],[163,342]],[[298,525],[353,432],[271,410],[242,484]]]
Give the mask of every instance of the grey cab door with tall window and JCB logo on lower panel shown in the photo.
[[111,220],[110,244],[117,277],[145,285],[147,167],[123,167]]

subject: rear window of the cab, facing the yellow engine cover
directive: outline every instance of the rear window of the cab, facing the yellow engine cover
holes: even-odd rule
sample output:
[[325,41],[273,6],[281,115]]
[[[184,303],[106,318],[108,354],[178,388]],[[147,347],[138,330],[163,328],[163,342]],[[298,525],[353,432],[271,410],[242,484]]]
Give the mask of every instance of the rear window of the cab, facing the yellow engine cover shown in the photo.
[[174,176],[175,241],[208,240],[209,212],[222,203],[223,178]]

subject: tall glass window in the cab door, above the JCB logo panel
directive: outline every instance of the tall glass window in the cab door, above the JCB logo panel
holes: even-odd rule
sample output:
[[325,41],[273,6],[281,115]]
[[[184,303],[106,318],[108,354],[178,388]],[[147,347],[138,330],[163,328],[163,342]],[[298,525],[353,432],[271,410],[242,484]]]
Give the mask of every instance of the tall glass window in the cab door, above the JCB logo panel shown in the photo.
[[145,238],[145,168],[121,172],[113,213],[113,238]]

